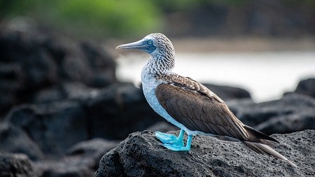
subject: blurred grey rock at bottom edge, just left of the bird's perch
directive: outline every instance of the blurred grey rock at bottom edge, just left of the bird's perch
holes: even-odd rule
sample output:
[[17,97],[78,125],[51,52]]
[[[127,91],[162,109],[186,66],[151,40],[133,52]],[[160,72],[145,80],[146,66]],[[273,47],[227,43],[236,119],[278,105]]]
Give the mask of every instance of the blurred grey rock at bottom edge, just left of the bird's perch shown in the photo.
[[94,176],[102,156],[118,145],[117,141],[92,139],[77,143],[60,160],[35,162],[38,176]]

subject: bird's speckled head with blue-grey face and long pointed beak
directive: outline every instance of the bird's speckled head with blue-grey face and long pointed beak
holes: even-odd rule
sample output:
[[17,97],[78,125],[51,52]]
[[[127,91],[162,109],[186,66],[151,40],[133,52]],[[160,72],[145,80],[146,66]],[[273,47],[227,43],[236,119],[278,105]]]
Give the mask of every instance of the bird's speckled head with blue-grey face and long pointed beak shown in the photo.
[[116,47],[116,49],[120,48],[138,49],[147,52],[152,56],[164,55],[166,57],[166,55],[168,55],[174,57],[175,54],[172,42],[169,41],[169,38],[167,38],[167,36],[160,33],[149,34],[140,41],[127,43]]

